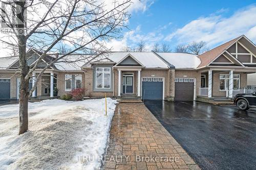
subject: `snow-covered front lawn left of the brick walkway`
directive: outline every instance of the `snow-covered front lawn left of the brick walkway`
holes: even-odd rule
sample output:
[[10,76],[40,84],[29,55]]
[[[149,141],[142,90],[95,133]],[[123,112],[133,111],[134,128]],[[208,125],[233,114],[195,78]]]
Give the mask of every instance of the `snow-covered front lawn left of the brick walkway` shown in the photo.
[[1,106],[0,169],[100,168],[116,107],[108,98],[105,116],[104,100],[29,103],[29,131],[19,136],[18,105]]

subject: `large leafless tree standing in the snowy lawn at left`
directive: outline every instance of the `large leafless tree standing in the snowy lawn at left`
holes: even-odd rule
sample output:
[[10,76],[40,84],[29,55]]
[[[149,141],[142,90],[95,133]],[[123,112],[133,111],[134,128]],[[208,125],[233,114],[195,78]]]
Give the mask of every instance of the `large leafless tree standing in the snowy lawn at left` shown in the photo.
[[[111,8],[106,8],[103,3],[94,0],[54,0],[53,2],[9,0],[6,8],[1,7],[0,20],[6,23],[6,27],[11,32],[6,32],[4,38],[0,40],[5,45],[18,49],[20,76],[18,134],[28,130],[29,96],[32,95],[45,70],[72,53],[88,54],[83,57],[90,62],[92,55],[89,54],[93,54],[95,58],[109,51],[105,41],[121,38],[121,29],[125,27],[130,17],[127,14],[130,4],[130,0],[121,3],[114,1]],[[13,9],[16,12],[13,12]],[[47,66],[41,68],[38,76],[33,77],[33,72],[46,58],[47,53],[56,51],[63,41],[69,43],[72,50],[49,61]],[[31,48],[39,52],[33,67],[27,63],[27,52]],[[30,78],[33,78],[35,83],[29,91]]]

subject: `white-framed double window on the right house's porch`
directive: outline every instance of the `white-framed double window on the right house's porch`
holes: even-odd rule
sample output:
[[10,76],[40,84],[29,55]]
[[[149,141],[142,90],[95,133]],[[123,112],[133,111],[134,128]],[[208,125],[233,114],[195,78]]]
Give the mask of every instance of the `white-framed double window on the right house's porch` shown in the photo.
[[[220,90],[229,87],[229,75],[220,75]],[[240,75],[233,75],[233,88],[240,88]]]

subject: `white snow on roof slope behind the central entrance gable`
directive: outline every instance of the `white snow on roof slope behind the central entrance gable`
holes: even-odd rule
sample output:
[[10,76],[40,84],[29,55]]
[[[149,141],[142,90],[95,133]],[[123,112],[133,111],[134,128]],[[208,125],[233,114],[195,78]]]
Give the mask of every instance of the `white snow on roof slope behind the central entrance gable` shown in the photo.
[[152,52],[112,52],[108,58],[118,63],[128,54],[131,54],[146,68],[168,68],[168,65]]

